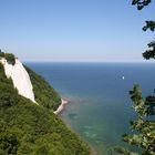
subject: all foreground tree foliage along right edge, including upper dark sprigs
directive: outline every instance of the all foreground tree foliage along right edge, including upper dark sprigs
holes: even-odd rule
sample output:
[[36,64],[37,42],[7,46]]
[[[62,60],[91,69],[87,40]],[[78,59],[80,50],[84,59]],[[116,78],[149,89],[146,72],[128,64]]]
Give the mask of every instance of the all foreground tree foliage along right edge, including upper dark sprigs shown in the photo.
[[[132,4],[137,7],[137,10],[142,10],[148,6],[151,0],[133,0]],[[143,30],[155,30],[155,21],[146,21],[146,25]],[[149,50],[143,53],[144,59],[155,59],[155,41],[148,43]],[[154,91],[155,93],[155,91]],[[155,95],[149,95],[145,99],[142,97],[142,90],[140,85],[135,85],[130,91],[131,99],[133,101],[133,108],[137,113],[137,118],[131,121],[131,128],[133,134],[124,134],[123,141],[130,145],[137,146],[137,151],[132,152],[124,147],[115,147],[115,152],[124,155],[155,155]]]

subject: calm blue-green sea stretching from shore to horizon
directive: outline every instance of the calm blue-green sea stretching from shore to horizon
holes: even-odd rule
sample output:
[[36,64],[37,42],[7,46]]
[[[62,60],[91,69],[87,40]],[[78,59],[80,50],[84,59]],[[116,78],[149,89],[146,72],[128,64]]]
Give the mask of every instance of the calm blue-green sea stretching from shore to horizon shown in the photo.
[[143,97],[154,94],[155,63],[25,64],[70,101],[60,117],[96,155],[110,155],[115,146],[131,148],[122,142],[136,120],[128,91],[140,84]]

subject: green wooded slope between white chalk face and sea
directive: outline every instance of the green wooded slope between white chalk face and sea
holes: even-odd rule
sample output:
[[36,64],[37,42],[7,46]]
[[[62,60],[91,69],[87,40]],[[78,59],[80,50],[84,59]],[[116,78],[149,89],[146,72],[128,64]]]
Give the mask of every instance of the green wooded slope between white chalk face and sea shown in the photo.
[[61,104],[61,97],[58,92],[42,76],[34,73],[28,66],[24,68],[30,75],[35,101],[43,107],[55,111]]

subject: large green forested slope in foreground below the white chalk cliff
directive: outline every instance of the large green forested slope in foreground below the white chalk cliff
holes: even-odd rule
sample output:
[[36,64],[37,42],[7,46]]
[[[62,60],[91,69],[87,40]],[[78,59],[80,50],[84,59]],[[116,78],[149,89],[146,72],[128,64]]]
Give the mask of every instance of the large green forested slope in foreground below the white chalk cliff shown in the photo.
[[90,155],[87,145],[45,107],[20,96],[0,64],[0,155]]

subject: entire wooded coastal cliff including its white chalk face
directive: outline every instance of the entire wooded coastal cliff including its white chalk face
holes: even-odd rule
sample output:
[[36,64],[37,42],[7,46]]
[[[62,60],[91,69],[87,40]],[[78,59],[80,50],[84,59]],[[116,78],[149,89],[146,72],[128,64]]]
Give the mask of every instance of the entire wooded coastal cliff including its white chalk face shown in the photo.
[[61,101],[56,91],[13,55],[3,59],[0,155],[91,155],[89,146],[53,113]]

